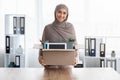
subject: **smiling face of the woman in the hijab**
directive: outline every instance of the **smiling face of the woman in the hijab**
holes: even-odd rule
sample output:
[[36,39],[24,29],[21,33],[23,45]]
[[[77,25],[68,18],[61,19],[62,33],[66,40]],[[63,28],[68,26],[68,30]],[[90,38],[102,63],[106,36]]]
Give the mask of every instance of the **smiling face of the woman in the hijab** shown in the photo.
[[60,9],[56,12],[56,19],[59,22],[63,22],[67,18],[67,11],[65,9]]

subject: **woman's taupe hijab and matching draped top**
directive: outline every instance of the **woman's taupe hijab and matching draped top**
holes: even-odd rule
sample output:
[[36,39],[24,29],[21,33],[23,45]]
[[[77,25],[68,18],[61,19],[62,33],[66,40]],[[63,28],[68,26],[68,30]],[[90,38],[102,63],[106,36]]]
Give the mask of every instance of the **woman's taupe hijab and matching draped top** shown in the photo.
[[[64,8],[68,13],[68,8],[64,4],[59,4],[58,6],[56,6],[55,13],[61,8]],[[74,27],[71,23],[66,22],[67,18],[65,19],[65,21],[59,22],[55,16],[55,21],[52,24],[45,26],[42,40],[49,42],[68,42],[71,38],[75,39],[76,43]]]

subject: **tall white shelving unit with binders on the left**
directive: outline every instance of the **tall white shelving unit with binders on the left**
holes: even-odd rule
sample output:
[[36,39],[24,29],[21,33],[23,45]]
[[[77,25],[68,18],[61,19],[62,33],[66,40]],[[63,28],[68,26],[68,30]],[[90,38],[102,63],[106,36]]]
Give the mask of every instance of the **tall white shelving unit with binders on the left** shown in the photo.
[[25,15],[5,15],[5,67],[25,67]]

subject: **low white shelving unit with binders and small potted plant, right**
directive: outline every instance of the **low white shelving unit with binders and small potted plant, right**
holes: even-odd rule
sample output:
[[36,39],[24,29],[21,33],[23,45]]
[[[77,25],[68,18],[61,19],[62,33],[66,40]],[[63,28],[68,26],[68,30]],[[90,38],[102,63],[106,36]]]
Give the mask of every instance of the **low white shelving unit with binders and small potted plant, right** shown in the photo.
[[[119,70],[120,66],[120,55],[118,54],[119,48],[120,48],[120,44],[118,43],[118,41],[120,40],[120,37],[93,37],[93,36],[89,36],[89,37],[85,37],[85,39],[95,39],[95,43],[91,42],[86,42],[85,41],[85,55],[84,55],[84,67],[112,67],[115,70]],[[105,44],[105,55],[101,56],[100,55],[100,44],[104,43]],[[89,45],[88,45],[89,44]],[[95,47],[93,47],[95,44]],[[89,48],[88,48],[89,47]],[[90,52],[92,52],[91,50],[95,48],[95,54],[92,54]],[[102,49],[104,50],[104,49]],[[116,56],[115,57],[111,57],[111,52],[115,51]]]

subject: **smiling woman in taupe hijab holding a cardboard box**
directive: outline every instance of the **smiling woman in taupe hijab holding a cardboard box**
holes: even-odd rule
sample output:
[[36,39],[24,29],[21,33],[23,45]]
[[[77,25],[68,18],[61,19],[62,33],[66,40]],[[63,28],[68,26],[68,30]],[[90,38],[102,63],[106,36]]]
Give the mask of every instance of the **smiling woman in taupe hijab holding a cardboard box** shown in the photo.
[[[55,14],[54,22],[46,25],[44,28],[42,41],[68,42],[69,39],[74,39],[75,40],[74,44],[76,45],[77,43],[76,43],[74,27],[71,23],[66,22],[68,19],[67,6],[64,4],[57,5],[54,14]],[[42,54],[40,54],[39,62],[40,64],[45,66],[44,60],[42,59]],[[54,66],[54,67],[60,67],[60,66]]]

